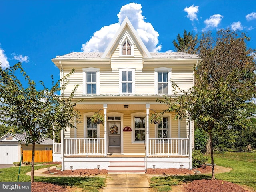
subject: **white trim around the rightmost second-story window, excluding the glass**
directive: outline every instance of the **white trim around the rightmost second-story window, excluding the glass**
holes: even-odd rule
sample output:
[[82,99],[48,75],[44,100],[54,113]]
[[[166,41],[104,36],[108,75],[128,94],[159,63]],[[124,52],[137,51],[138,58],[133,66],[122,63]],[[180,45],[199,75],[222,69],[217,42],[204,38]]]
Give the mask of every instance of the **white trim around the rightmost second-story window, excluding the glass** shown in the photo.
[[[172,84],[170,82],[170,79],[172,78],[172,68],[167,67],[159,67],[154,69],[154,76],[155,76],[155,94],[156,95],[166,95],[166,94],[172,94]],[[168,93],[158,93],[158,72],[168,72]]]

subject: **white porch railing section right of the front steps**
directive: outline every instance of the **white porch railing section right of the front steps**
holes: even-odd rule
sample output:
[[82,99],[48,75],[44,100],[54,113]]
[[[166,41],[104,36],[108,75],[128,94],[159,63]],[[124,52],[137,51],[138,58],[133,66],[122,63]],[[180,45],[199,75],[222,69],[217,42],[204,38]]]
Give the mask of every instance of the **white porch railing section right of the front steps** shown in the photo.
[[189,138],[148,138],[150,156],[188,156]]

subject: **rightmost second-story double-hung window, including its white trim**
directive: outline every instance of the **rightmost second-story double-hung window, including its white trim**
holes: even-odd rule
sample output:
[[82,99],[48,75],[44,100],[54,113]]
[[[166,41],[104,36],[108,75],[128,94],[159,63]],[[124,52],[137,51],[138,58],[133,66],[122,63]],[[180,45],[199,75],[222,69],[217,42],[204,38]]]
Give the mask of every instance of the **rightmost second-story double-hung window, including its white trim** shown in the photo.
[[171,94],[171,68],[155,68],[155,94]]

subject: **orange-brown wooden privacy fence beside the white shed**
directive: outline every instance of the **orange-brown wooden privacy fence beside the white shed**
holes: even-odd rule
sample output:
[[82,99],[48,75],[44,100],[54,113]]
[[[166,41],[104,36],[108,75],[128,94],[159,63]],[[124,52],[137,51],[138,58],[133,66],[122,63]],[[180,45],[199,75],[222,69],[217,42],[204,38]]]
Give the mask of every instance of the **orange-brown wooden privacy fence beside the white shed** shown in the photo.
[[[23,162],[32,160],[32,151],[23,151]],[[52,161],[52,150],[35,151],[35,163]]]

